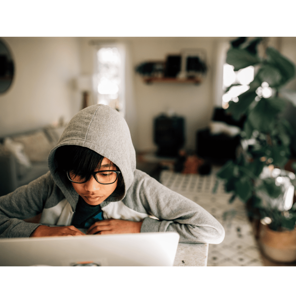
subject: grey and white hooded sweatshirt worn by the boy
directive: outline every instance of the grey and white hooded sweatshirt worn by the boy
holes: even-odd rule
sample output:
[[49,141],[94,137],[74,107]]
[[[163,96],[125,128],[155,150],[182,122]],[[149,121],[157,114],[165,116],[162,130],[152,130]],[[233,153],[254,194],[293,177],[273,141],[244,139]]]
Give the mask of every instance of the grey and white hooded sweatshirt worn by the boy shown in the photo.
[[[205,209],[136,169],[136,153],[124,118],[105,105],[78,112],[48,157],[49,172],[0,197],[0,237],[29,237],[42,224],[71,225],[78,193],[55,173],[54,153],[62,145],[88,147],[120,169],[125,192],[101,203],[105,219],[143,221],[141,232],[176,231],[180,242],[219,244],[225,231]],[[22,219],[42,213],[39,223]]]

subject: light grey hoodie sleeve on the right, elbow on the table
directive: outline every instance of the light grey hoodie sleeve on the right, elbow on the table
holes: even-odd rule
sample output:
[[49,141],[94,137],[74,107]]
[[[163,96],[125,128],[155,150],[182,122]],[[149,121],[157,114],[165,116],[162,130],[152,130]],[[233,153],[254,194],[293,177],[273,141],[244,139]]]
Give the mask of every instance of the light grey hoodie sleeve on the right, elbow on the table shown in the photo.
[[[136,193],[136,192],[135,192]],[[141,232],[175,231],[179,242],[220,244],[225,236],[223,226],[204,208],[188,198],[146,177],[138,194],[147,213]]]

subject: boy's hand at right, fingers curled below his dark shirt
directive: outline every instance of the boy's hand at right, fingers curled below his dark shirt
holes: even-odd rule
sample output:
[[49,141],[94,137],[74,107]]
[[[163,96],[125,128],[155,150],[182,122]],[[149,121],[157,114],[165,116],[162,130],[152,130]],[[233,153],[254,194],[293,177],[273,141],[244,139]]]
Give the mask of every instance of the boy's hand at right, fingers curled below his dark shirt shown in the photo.
[[134,222],[120,219],[106,219],[91,225],[86,234],[115,234],[115,233],[138,233],[143,221]]

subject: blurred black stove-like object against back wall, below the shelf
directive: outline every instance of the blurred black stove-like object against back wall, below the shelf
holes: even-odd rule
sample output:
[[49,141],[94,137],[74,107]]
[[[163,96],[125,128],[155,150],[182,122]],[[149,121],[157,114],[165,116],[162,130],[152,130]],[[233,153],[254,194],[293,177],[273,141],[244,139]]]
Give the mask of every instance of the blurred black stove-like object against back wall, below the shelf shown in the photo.
[[177,157],[185,143],[184,118],[160,115],[154,119],[154,142],[158,146],[156,154]]

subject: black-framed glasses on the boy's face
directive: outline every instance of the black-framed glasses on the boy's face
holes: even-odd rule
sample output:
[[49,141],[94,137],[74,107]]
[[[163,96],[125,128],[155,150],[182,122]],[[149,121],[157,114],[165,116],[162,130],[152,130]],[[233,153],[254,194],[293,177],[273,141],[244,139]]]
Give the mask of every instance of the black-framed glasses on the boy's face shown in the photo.
[[[121,172],[119,170],[100,170],[97,172],[93,172],[92,175],[98,183],[107,185],[114,183],[120,173]],[[86,180],[86,178],[75,175],[72,170],[67,170],[67,177],[71,182],[78,184],[82,184],[88,181]]]

